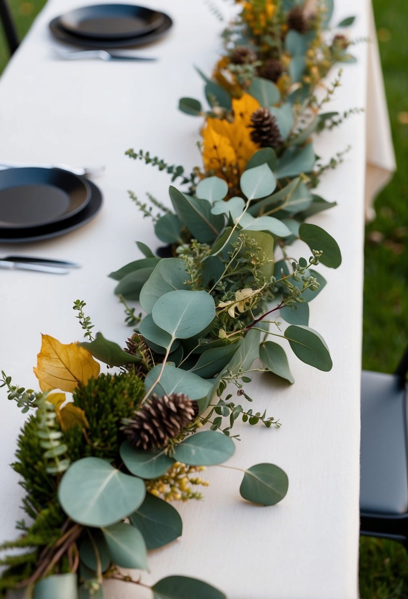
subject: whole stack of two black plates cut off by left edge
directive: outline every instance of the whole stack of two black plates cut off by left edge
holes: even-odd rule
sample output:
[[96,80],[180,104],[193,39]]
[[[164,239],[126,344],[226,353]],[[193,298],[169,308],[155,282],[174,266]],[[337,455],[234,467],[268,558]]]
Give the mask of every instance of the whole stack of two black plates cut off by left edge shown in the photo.
[[69,171],[0,171],[0,242],[37,241],[74,231],[93,219],[101,205],[101,190]]

